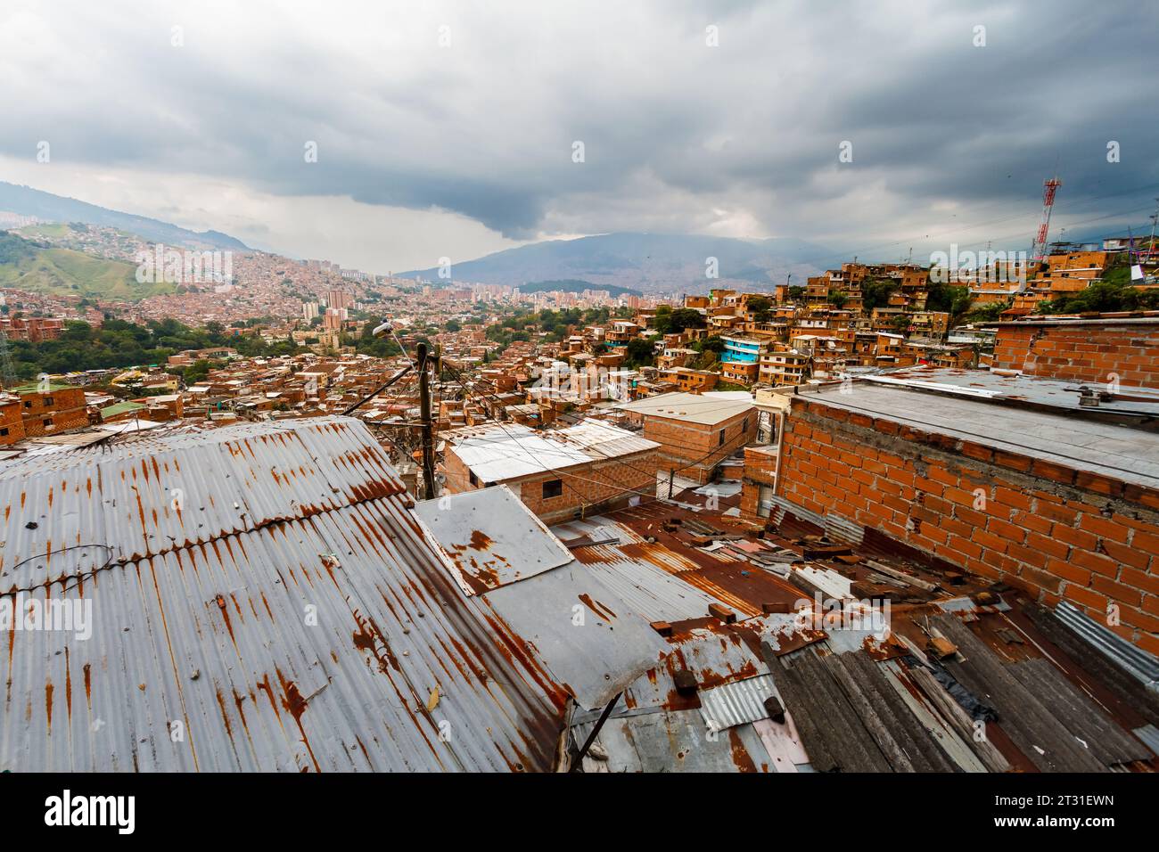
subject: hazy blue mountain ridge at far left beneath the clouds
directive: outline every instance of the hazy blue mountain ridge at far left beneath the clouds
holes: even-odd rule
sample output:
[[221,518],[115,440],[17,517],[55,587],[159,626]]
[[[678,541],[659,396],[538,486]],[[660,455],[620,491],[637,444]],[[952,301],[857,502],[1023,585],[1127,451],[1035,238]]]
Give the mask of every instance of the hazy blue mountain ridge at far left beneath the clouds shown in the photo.
[[35,216],[45,221],[81,221],[86,225],[102,225],[127,231],[150,242],[163,242],[166,246],[176,248],[249,250],[249,247],[241,240],[218,231],[190,231],[146,216],[122,213],[108,207],[99,207],[88,202],[65,198],[31,187],[3,181],[0,181],[0,212]]

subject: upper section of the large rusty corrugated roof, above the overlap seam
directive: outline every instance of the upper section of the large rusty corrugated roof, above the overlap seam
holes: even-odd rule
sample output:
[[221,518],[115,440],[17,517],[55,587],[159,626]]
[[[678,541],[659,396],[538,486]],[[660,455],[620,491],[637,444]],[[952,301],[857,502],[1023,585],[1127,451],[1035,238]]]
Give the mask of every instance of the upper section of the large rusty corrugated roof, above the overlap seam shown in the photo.
[[21,459],[0,468],[0,589],[64,577],[66,548],[140,559],[403,491],[365,427],[342,417]]

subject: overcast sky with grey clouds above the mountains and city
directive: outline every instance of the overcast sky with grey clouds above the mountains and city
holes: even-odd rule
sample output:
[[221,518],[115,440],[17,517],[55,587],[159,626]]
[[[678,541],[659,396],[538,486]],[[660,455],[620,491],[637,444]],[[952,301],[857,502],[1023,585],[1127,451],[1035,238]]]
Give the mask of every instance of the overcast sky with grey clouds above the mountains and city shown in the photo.
[[1052,235],[1147,221],[1157,31],[1088,0],[5,0],[0,180],[374,272],[611,231],[1025,249],[1056,165]]

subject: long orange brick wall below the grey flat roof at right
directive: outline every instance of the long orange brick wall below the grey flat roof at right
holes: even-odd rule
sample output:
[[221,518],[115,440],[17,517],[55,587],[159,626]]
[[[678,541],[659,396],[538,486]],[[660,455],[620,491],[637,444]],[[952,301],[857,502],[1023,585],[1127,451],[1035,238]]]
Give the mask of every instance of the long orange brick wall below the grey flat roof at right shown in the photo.
[[1159,654],[1159,491],[797,396],[780,494],[1049,605],[1066,599]]

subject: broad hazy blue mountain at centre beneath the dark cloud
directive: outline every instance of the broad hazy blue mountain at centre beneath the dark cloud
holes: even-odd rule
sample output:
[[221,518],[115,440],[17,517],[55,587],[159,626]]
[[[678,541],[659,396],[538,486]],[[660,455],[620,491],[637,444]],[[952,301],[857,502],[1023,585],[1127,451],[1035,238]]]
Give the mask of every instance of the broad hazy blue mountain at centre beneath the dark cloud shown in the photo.
[[[716,258],[716,278],[706,274],[710,257]],[[451,281],[522,286],[578,279],[598,289],[698,293],[732,285],[767,289],[783,283],[789,274],[794,284],[804,284],[808,276],[819,275],[837,260],[825,247],[793,238],[614,233],[537,242],[453,263]],[[396,275],[438,282],[438,272],[432,267]]]

